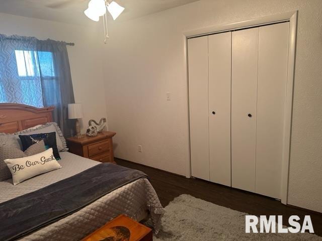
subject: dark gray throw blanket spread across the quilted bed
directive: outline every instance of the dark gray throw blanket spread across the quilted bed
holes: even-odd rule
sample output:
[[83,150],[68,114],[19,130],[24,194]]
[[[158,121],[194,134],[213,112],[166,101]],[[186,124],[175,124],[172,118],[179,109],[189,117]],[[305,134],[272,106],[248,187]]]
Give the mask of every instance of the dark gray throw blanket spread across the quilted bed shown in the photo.
[[0,240],[13,240],[26,235],[140,178],[146,178],[146,175],[104,163],[0,203]]

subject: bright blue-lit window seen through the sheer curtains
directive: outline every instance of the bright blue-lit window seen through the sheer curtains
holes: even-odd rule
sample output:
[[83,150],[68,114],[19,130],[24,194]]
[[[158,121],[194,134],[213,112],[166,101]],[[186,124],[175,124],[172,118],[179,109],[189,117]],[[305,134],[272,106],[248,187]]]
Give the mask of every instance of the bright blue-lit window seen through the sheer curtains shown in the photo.
[[[0,102],[11,102],[5,89],[12,89],[20,103],[43,107],[43,84],[55,86],[56,80],[51,52],[15,50],[17,74],[15,86],[0,85]],[[54,88],[54,87],[53,87]]]

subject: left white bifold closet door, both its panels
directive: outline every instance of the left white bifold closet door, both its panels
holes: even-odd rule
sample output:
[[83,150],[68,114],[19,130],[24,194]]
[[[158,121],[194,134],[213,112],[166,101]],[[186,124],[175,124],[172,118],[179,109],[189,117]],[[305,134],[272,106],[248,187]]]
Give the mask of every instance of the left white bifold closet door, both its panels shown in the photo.
[[192,176],[230,186],[231,33],[188,40]]

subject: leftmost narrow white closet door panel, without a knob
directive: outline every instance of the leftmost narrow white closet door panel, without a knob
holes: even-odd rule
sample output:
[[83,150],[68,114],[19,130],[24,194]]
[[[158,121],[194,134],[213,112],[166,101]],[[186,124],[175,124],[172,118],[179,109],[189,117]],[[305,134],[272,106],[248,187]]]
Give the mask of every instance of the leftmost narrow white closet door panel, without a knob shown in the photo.
[[192,176],[209,181],[208,36],[188,39]]

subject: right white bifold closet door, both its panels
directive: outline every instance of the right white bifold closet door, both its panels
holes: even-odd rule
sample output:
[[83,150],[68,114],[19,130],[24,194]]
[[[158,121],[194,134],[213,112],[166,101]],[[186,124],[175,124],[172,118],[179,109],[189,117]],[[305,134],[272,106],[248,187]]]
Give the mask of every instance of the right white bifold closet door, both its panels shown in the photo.
[[289,23],[232,33],[231,186],[280,198]]

